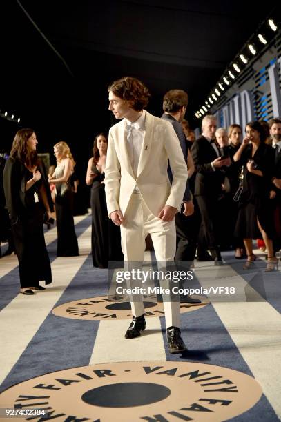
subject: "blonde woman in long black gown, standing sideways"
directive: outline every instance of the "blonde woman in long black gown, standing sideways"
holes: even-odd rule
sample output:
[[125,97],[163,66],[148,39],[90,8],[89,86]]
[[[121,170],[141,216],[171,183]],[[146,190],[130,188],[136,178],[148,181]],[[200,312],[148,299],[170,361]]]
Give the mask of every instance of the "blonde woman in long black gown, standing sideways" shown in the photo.
[[70,177],[75,161],[66,142],[54,146],[57,167],[49,183],[55,183],[55,208],[57,217],[57,256],[76,257],[79,255],[73,220],[73,192]]

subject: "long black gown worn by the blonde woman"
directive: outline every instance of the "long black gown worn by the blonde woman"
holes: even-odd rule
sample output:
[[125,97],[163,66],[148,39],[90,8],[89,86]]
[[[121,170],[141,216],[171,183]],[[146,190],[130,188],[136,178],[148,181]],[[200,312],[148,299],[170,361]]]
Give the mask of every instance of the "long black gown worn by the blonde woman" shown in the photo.
[[[57,165],[55,178],[64,175],[64,165]],[[56,183],[57,257],[77,257],[78,242],[73,220],[73,192],[70,181]]]

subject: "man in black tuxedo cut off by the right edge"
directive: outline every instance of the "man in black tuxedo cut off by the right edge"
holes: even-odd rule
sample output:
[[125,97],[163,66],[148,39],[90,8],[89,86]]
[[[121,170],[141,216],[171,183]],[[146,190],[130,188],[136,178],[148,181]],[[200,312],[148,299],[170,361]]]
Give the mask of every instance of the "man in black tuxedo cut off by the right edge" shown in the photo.
[[275,172],[273,177],[273,190],[276,196],[274,203],[274,222],[276,239],[273,241],[274,252],[281,248],[281,119],[273,118],[269,121],[269,132],[272,146],[275,148]]

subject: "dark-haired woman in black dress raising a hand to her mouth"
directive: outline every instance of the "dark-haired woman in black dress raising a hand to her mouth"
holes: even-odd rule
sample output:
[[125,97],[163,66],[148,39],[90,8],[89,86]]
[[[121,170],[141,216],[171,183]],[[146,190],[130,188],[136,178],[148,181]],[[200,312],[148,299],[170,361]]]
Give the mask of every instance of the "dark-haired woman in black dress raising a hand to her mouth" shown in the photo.
[[261,233],[268,251],[266,271],[272,271],[278,263],[273,253],[274,228],[270,203],[274,151],[264,141],[262,125],[258,121],[247,123],[246,137],[233,157],[235,162],[240,161],[243,165],[244,172],[235,234],[244,239],[248,257],[244,265],[246,269],[255,261],[252,240]]

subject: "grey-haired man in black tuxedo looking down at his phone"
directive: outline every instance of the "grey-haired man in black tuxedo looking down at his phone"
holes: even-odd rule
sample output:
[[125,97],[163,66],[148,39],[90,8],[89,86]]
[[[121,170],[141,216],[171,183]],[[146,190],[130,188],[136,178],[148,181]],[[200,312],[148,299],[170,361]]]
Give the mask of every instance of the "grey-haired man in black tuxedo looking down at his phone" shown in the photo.
[[224,181],[224,173],[221,169],[231,165],[231,159],[220,157],[220,150],[215,143],[216,129],[215,116],[207,114],[202,120],[202,136],[193,143],[191,154],[196,170],[194,194],[200,208],[204,236],[215,265],[222,265],[217,243],[218,199],[222,194]]

